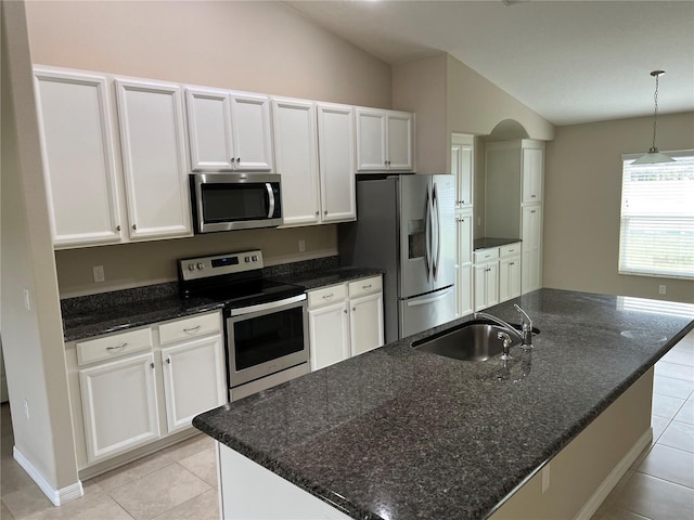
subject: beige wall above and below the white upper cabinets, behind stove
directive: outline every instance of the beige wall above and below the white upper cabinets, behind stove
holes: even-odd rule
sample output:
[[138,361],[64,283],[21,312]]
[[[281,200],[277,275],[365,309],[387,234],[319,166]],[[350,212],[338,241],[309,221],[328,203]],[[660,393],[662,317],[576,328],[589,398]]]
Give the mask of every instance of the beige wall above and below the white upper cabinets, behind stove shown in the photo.
[[[389,65],[279,2],[31,1],[27,17],[37,64],[390,107]],[[57,251],[61,296],[175,280],[177,258],[245,247],[269,264],[334,255],[336,227]],[[93,265],[104,265],[105,283],[93,283]]]

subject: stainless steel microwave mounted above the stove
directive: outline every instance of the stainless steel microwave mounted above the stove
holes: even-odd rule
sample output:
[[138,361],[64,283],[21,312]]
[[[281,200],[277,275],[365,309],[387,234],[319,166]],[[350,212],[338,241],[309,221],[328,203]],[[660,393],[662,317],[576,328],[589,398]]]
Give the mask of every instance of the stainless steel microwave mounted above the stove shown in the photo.
[[195,233],[282,224],[279,174],[191,173],[190,183]]

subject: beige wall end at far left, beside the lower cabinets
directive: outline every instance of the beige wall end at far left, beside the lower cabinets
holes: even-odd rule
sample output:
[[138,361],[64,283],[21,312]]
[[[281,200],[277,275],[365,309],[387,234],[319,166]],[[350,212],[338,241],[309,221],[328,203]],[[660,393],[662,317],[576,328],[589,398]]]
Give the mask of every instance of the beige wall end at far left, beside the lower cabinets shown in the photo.
[[[53,490],[77,482],[63,329],[24,4],[2,2],[2,349],[14,446]],[[39,204],[40,203],[40,204]],[[26,309],[24,291],[29,294]],[[25,414],[25,406],[28,414]]]

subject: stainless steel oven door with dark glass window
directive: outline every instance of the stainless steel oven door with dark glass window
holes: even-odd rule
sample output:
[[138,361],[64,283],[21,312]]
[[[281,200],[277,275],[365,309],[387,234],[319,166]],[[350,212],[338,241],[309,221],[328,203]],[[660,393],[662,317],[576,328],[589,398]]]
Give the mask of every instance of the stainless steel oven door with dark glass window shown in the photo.
[[231,309],[227,355],[231,388],[308,363],[306,295]]

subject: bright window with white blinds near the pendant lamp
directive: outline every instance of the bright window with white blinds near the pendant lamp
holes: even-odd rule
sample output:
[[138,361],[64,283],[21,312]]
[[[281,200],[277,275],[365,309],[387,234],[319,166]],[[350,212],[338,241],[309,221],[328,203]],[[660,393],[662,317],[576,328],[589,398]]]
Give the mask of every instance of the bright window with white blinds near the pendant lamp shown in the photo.
[[622,156],[619,273],[694,280],[694,151],[674,162]]

